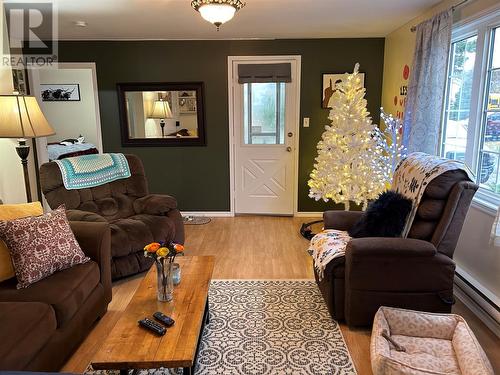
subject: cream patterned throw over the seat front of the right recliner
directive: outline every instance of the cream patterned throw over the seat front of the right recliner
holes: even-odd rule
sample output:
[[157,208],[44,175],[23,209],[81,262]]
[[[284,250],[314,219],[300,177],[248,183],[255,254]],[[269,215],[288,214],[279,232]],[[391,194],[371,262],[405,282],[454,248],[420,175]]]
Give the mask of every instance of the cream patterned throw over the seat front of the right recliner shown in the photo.
[[307,250],[314,261],[314,268],[320,280],[323,279],[325,268],[335,258],[345,255],[347,243],[351,237],[342,230],[325,229],[315,235]]

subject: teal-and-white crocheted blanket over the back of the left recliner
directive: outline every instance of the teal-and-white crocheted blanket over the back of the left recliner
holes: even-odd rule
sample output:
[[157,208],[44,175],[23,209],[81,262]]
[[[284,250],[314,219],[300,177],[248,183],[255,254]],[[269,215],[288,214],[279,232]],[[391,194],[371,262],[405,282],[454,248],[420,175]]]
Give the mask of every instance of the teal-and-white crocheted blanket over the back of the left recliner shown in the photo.
[[82,155],[55,160],[68,190],[91,188],[130,177],[123,154]]

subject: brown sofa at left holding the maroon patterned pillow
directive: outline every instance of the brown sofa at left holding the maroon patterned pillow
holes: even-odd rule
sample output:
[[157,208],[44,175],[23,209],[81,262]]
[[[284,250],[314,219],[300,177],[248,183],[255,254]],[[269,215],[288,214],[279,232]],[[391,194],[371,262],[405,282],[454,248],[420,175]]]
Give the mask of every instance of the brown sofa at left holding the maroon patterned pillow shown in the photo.
[[70,222],[91,261],[28,288],[0,283],[0,370],[58,371],[111,301],[107,223]]

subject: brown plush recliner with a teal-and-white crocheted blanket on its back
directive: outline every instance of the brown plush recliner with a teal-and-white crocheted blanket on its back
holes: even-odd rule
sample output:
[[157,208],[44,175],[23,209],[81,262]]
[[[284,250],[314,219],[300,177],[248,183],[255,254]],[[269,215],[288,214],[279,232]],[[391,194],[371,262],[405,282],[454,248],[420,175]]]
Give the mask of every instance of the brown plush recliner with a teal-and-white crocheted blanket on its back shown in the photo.
[[131,176],[89,189],[66,190],[55,162],[40,167],[43,194],[52,209],[66,205],[70,221],[109,222],[113,279],[147,270],[152,259],[144,245],[154,241],[184,243],[184,223],[177,201],[149,194],[141,160],[125,155]]

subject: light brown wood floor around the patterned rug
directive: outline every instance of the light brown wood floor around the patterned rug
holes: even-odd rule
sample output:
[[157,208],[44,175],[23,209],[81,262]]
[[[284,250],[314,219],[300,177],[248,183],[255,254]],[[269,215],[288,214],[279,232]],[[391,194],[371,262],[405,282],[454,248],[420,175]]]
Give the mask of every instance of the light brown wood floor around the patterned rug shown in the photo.
[[[186,255],[214,255],[216,279],[312,279],[311,258],[305,249],[307,241],[298,230],[304,218],[240,216],[216,218],[207,225],[186,226]],[[62,369],[83,372],[99,345],[116,324],[144,275],[138,275],[113,286],[113,301],[108,313]],[[500,374],[500,340],[463,304],[457,302],[454,312],[467,320]],[[345,341],[358,374],[371,374],[370,331],[350,329],[341,324]]]

